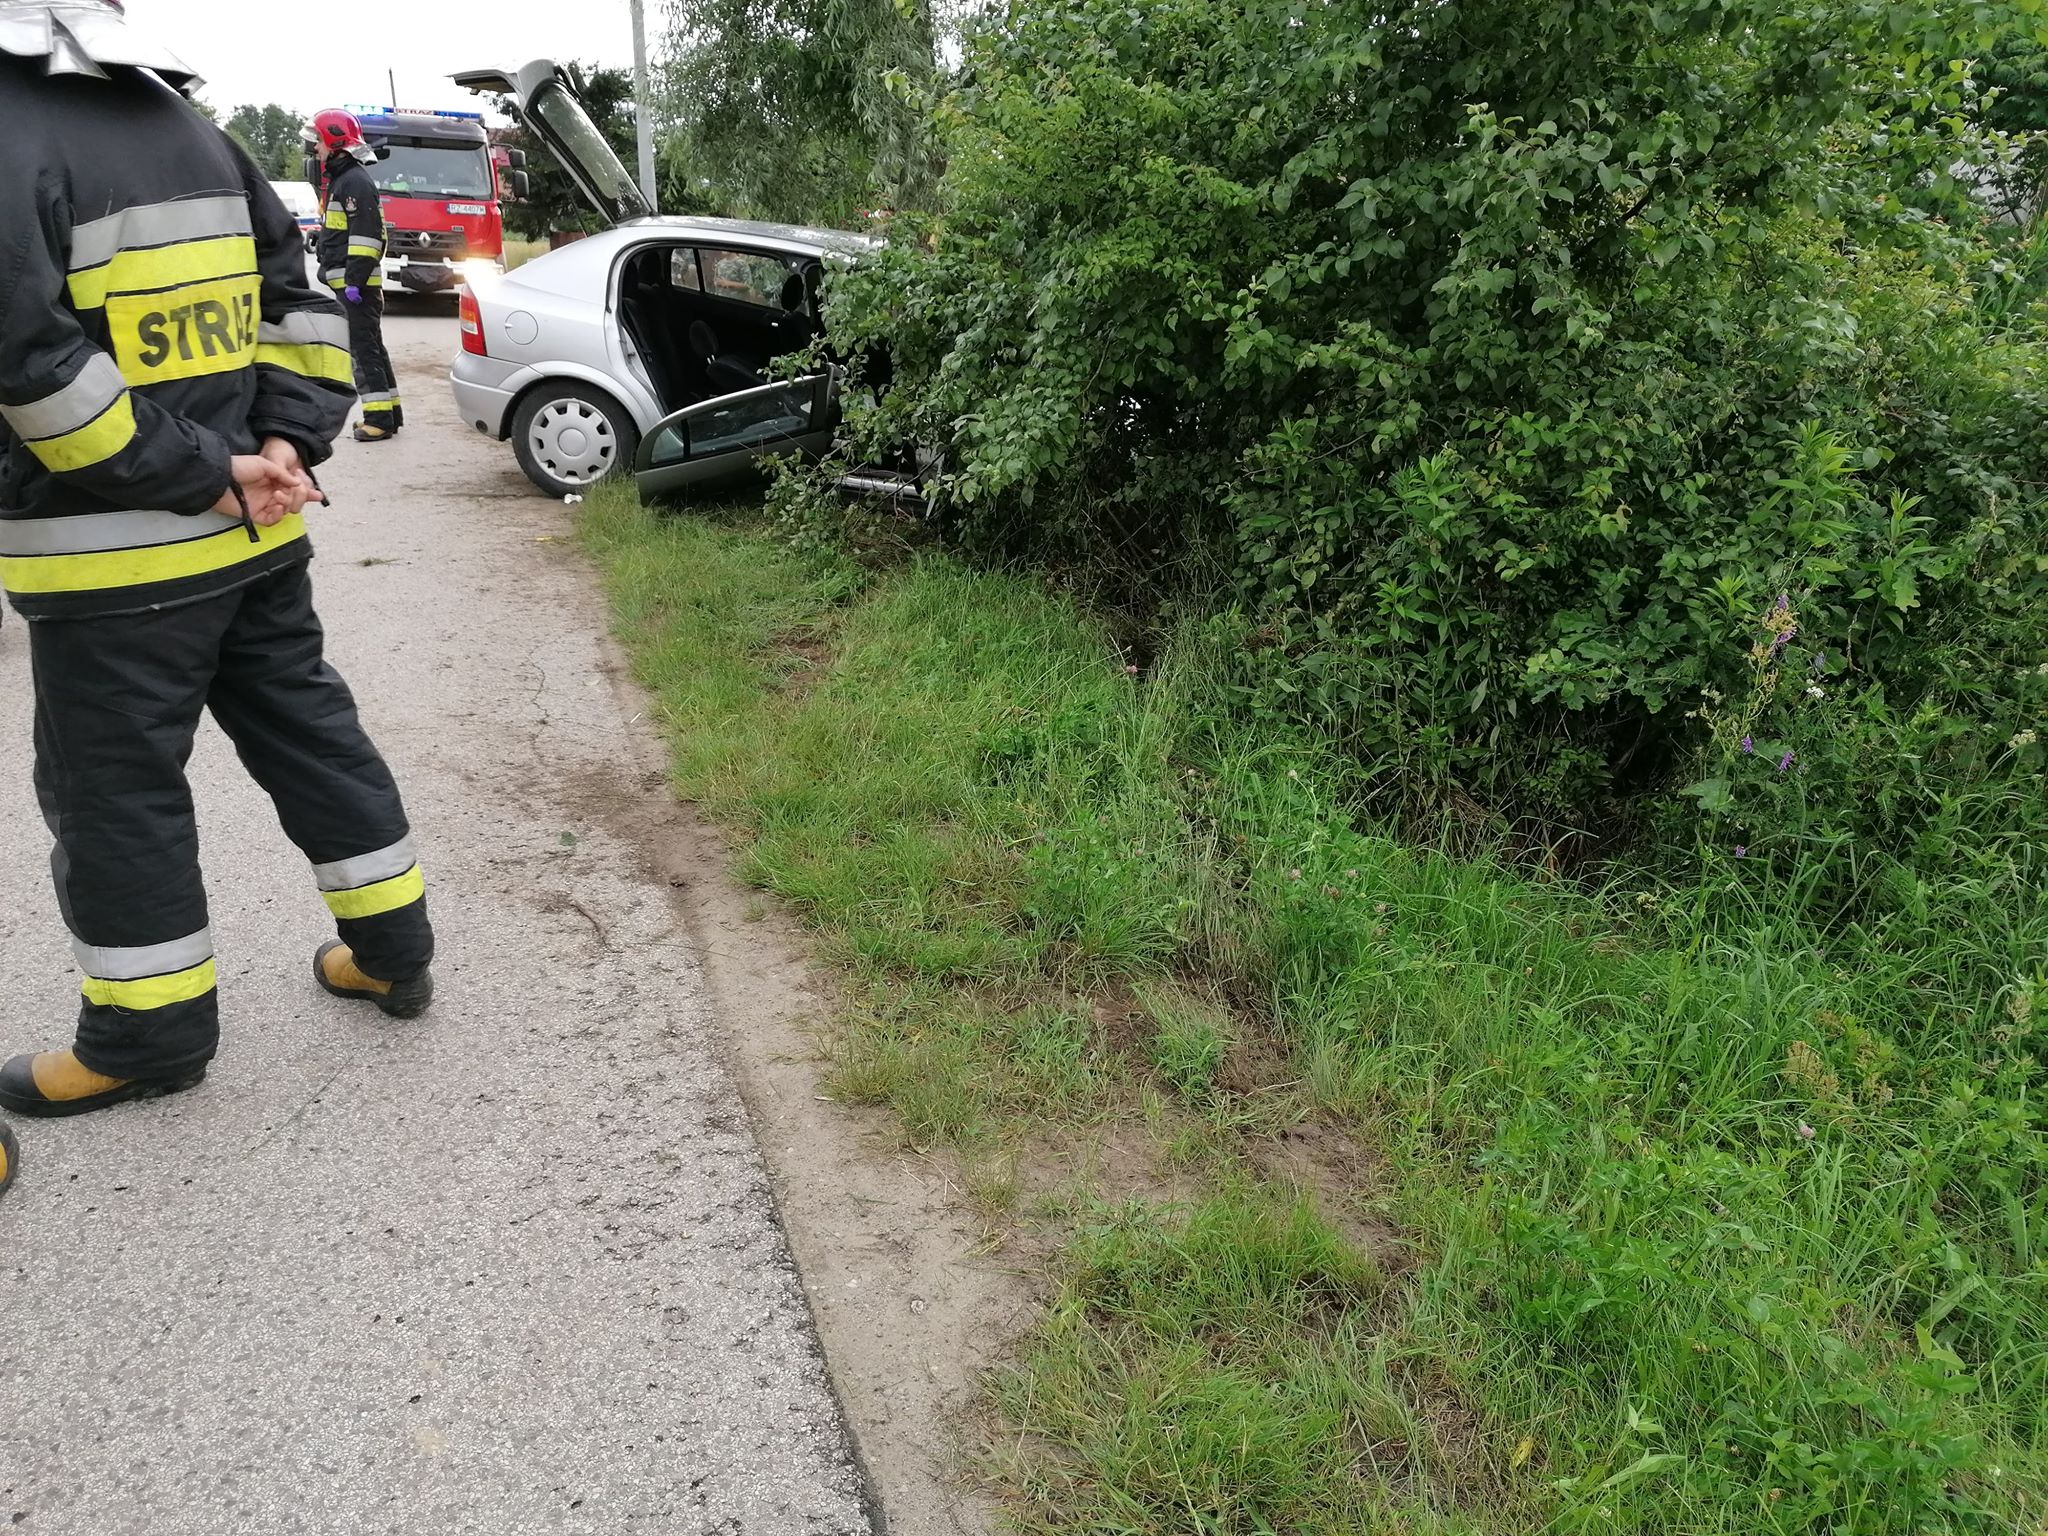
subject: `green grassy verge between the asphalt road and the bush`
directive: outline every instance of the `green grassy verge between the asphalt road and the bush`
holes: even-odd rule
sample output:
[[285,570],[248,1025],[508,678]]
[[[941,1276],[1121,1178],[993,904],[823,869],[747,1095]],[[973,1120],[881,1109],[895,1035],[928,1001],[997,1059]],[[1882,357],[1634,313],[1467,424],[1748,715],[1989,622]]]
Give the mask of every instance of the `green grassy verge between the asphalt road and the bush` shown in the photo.
[[840,1092],[997,1212],[1049,1139],[1157,1174],[1061,1206],[993,1384],[1022,1530],[2042,1530],[2038,879],[1880,944],[1741,868],[1450,858],[1198,643],[1137,676],[1026,582],[582,526],[678,791],[856,979]]

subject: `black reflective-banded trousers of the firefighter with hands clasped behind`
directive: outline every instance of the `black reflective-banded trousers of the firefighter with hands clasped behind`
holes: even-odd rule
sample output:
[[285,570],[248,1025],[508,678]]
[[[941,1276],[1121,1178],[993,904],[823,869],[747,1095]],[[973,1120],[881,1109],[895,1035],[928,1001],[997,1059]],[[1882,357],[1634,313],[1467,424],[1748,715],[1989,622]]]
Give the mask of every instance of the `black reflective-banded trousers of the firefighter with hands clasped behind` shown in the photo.
[[[180,608],[29,625],[35,786],[86,975],[76,1051],[92,1071],[188,1073],[219,1044],[184,780],[203,709],[311,860],[356,965],[410,981],[432,958],[397,784],[322,647],[305,561]],[[233,864],[225,877],[233,891]]]

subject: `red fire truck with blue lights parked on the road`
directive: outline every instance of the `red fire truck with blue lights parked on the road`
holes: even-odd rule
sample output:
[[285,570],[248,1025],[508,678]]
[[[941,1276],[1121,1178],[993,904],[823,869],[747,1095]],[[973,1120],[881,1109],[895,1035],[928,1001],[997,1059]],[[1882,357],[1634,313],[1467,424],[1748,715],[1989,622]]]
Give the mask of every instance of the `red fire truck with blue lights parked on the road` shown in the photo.
[[[526,156],[494,147],[481,113],[346,106],[377,152],[385,285],[453,293],[481,268],[504,270],[500,205],[526,197]],[[326,168],[305,129],[305,178],[326,207]]]

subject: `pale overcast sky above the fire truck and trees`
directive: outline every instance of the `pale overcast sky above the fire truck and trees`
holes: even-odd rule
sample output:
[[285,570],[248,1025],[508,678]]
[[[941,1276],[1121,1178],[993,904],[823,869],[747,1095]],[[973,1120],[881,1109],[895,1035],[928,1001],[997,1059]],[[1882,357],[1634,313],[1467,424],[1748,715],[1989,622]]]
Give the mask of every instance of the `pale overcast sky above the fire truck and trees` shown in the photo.
[[[647,0],[649,33],[659,12],[659,0]],[[389,104],[385,70],[397,70],[399,106],[465,109],[481,98],[449,80],[457,70],[633,61],[627,0],[127,0],[127,14],[207,78],[201,96],[223,119],[244,102],[307,115]]]

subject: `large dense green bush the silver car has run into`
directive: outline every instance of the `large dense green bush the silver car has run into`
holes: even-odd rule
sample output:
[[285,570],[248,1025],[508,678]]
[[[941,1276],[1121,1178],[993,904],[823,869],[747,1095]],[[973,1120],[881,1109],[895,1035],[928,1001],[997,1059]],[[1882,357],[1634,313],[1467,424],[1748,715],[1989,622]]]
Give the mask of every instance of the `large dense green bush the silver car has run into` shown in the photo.
[[2040,14],[1014,6],[944,113],[946,217],[831,295],[891,356],[856,428],[946,449],[969,545],[1221,575],[1243,707],[1493,821],[1696,786],[1784,831],[1714,788],[1714,721],[1788,608],[1839,705],[1825,754],[1769,717],[1827,811],[1796,836],[1909,856],[1901,764],[2032,772],[2048,352],[1980,303],[2011,262],[1952,168],[1964,59]]

